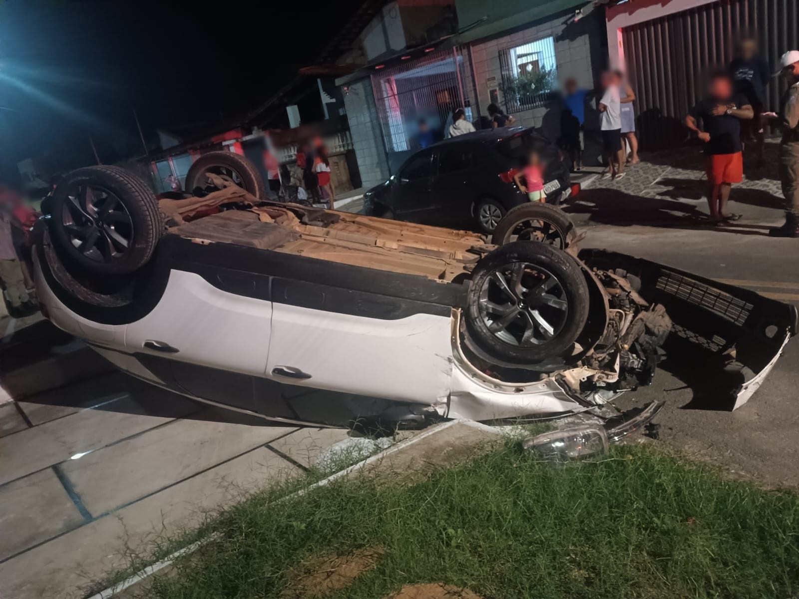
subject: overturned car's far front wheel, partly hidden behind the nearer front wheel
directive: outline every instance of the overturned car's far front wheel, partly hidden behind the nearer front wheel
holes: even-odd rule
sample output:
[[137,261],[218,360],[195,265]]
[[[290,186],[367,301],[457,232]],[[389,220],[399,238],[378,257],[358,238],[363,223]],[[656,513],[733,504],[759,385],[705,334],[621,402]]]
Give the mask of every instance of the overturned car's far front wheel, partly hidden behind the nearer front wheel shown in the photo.
[[559,208],[547,204],[522,204],[511,208],[495,228],[491,243],[539,241],[565,250],[576,239],[574,224]]

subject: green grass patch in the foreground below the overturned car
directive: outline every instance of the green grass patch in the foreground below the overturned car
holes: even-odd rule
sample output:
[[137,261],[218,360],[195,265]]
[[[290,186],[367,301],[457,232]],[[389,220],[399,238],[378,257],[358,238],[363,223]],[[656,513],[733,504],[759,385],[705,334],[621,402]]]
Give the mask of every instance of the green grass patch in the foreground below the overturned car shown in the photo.
[[147,597],[279,597],[300,561],[383,545],[330,597],[440,581],[483,597],[792,597],[799,499],[647,446],[554,469],[518,443],[414,484],[336,482],[229,510]]

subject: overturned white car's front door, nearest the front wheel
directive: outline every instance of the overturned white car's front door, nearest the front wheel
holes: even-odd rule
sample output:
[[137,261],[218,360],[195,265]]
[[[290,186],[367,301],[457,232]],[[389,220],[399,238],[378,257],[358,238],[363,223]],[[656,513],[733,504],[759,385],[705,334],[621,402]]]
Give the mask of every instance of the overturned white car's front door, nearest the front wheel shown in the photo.
[[446,401],[449,308],[426,313],[422,303],[300,281],[272,284],[272,302],[272,379],[413,403]]

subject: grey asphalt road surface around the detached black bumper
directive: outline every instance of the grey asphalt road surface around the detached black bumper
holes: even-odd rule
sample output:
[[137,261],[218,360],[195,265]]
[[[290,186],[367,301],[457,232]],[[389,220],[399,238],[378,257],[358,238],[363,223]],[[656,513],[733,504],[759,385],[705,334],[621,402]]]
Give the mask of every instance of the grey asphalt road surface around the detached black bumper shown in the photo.
[[[625,252],[799,304],[799,240],[643,226],[581,228],[586,231],[583,248]],[[692,392],[665,371],[658,371],[651,387],[628,394],[624,403],[666,400],[658,416],[662,442],[768,486],[797,487],[797,362],[799,339],[793,339],[749,403],[733,412],[687,407]]]

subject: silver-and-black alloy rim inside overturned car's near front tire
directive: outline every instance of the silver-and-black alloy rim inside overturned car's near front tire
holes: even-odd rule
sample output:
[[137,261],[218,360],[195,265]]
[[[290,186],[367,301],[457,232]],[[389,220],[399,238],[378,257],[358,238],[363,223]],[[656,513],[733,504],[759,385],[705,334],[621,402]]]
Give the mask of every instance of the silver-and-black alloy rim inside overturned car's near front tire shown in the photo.
[[483,280],[478,310],[495,338],[516,347],[535,347],[559,335],[569,304],[563,285],[546,268],[511,262]]

